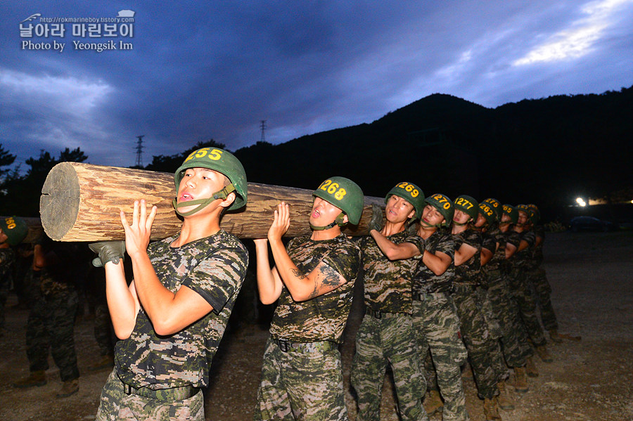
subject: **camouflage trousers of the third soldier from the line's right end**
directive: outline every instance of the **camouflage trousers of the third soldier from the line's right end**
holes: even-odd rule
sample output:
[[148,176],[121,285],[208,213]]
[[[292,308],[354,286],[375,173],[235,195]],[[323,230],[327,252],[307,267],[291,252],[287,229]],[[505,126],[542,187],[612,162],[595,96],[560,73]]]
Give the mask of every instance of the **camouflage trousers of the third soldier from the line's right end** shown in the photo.
[[523,367],[534,354],[521,321],[518,305],[505,278],[499,271],[489,273],[487,297],[501,329],[501,351],[511,368]]

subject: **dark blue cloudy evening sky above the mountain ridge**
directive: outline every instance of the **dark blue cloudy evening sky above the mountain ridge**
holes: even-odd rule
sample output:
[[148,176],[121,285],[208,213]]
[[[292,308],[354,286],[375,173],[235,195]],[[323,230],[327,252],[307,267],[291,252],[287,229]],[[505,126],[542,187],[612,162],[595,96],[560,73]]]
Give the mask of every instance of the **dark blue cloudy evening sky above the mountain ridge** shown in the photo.
[[[99,3],[2,2],[0,143],[16,163],[80,147],[92,164],[128,167],[141,134],[148,164],[210,138],[250,145],[262,119],[281,143],[431,93],[494,108],[633,84],[633,0]],[[73,36],[72,23],[64,37],[20,37],[20,23],[121,10],[135,12],[132,38]],[[109,39],[132,50],[72,43]]]

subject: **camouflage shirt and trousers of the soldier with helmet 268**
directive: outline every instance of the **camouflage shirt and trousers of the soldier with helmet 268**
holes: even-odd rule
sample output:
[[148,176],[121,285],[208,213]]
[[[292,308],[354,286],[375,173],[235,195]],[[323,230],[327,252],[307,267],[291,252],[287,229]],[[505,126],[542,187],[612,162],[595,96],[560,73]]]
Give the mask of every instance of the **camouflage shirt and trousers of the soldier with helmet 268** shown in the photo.
[[264,351],[254,420],[347,420],[338,344],[350,314],[361,251],[341,234],[293,238],[286,247],[302,273],[324,262],[347,282],[295,302],[283,285]]

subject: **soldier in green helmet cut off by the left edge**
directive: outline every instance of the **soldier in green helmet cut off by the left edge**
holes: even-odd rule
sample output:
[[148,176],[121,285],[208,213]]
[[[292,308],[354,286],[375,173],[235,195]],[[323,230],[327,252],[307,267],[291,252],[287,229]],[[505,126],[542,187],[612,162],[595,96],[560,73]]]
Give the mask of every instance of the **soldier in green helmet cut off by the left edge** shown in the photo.
[[0,219],[0,337],[4,332],[4,306],[11,287],[11,271],[16,258],[11,247],[20,244],[28,231],[26,222],[18,216]]

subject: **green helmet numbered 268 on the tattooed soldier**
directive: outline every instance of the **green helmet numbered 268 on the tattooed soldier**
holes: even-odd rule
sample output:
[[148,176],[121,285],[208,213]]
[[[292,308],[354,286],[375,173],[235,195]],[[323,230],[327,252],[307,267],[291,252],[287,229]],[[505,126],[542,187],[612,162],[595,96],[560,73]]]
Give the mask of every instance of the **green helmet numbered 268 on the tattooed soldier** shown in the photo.
[[[363,190],[354,181],[345,177],[330,177],[321,183],[312,195],[321,197],[321,199],[342,210],[347,215],[350,224],[357,225],[359,223],[363,214],[365,197]],[[343,225],[343,219],[339,219],[336,223]]]

